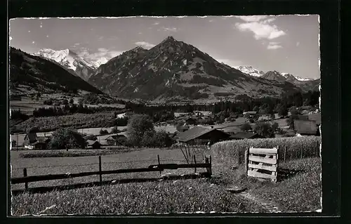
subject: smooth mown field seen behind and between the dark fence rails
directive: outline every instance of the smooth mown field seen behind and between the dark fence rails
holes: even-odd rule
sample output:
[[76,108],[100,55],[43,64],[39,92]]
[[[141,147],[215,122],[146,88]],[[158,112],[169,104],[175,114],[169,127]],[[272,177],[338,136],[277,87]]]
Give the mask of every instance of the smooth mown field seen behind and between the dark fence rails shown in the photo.
[[[76,151],[77,152],[77,151]],[[87,150],[81,150],[82,153],[87,153]],[[81,173],[88,171],[98,171],[98,154],[95,156],[84,157],[27,157],[22,158],[25,152],[13,151],[11,152],[11,177],[23,176],[23,169],[27,169],[28,176],[58,174],[58,173]],[[27,152],[29,153],[29,152]],[[44,152],[38,152],[44,153]],[[50,153],[50,152],[46,152]],[[58,153],[58,152],[57,152]],[[61,152],[65,153],[65,152]],[[74,151],[70,152],[74,153]],[[91,150],[91,153],[95,153]],[[96,152],[98,153],[98,152]],[[108,152],[107,152],[108,153]],[[206,153],[206,152],[205,152]],[[115,169],[134,169],[134,168],[147,168],[152,164],[158,164],[157,155],[159,155],[161,163],[176,163],[185,164],[186,160],[183,153],[178,149],[140,149],[131,150],[130,152],[121,152],[104,154],[100,152],[102,170],[115,170]],[[204,152],[196,154],[197,162],[204,161]],[[197,169],[197,172],[203,172],[206,169]],[[194,173],[194,169],[178,169],[163,171],[161,174],[190,174]],[[157,178],[161,177],[160,173],[121,173],[104,175],[102,179],[116,180],[122,178]],[[70,185],[76,183],[91,183],[99,180],[99,176],[86,176],[80,178],[63,179],[63,180],[47,180],[29,183],[29,187],[44,187],[55,185]],[[23,189],[24,184],[12,185],[13,190]]]

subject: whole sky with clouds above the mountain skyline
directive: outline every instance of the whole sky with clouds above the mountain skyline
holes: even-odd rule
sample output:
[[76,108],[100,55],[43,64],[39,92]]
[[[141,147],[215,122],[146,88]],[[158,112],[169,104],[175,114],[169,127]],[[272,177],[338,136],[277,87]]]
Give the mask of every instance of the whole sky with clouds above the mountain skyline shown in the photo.
[[318,15],[15,18],[9,25],[10,46],[27,53],[69,48],[89,60],[110,60],[172,36],[232,67],[320,78]]

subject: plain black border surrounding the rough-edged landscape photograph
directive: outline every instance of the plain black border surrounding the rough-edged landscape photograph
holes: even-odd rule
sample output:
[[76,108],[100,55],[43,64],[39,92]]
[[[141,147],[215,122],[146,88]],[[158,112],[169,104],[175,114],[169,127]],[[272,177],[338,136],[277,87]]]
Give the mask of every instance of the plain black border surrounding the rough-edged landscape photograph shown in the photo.
[[[4,4],[4,2],[1,2]],[[342,113],[341,107],[347,108],[341,100],[347,98],[347,77],[341,77],[340,73],[340,2],[328,0],[9,0],[4,8],[8,7],[8,19],[10,18],[36,18],[36,17],[100,17],[100,16],[136,16],[136,15],[294,15],[294,14],[317,14],[320,21],[320,52],[321,52],[321,97],[322,97],[322,213],[238,213],[238,214],[174,214],[174,215],[150,215],[150,216],[75,216],[74,223],[98,222],[102,217],[103,222],[179,222],[179,218],[190,218],[191,222],[203,222],[204,218],[211,222],[255,222],[255,221],[314,221],[334,222],[341,215],[341,149],[344,140],[343,151],[347,150],[346,141],[350,138],[347,135],[347,127],[350,125],[347,113]],[[7,17],[6,15],[3,17]],[[8,34],[8,33],[7,33]],[[4,37],[4,36],[3,36]],[[15,222],[62,222],[67,216],[57,216],[60,218],[34,218],[34,216],[19,218],[11,217],[11,192],[8,190],[10,175],[9,171],[9,136],[8,130],[8,35],[6,36],[6,55],[5,60],[1,60],[3,81],[1,90],[1,140],[4,153],[2,156],[3,164],[6,167],[3,171],[3,186],[6,183],[6,195],[2,202],[5,204],[6,216],[8,221]],[[4,47],[5,44],[3,44]],[[4,47],[5,48],[5,47]],[[3,57],[4,53],[3,52]],[[344,88],[342,88],[342,86]],[[350,130],[350,129],[348,129]],[[344,158],[345,154],[343,154]],[[6,160],[5,160],[6,158]],[[345,164],[344,164],[345,165]],[[350,166],[346,163],[347,166]],[[347,171],[346,167],[343,167]],[[350,170],[350,169],[349,169]],[[346,182],[343,182],[343,189],[347,189]],[[345,187],[345,188],[344,188]],[[351,189],[351,188],[350,188]],[[343,192],[346,192],[344,190]],[[343,196],[343,199],[347,197]],[[3,203],[4,205],[4,203]],[[347,211],[343,213],[346,215]],[[171,217],[170,217],[171,216]],[[52,217],[52,216],[51,216]],[[61,218],[62,217],[62,218]],[[76,218],[78,217],[78,218]],[[85,218],[89,218],[85,220]],[[96,217],[96,218],[95,218]],[[284,218],[288,217],[288,218]],[[334,218],[331,218],[334,217]],[[113,220],[111,218],[117,218]],[[261,219],[263,218],[263,219]],[[295,220],[298,218],[298,220]],[[284,219],[284,220],[281,220]],[[207,221],[208,221],[207,220]]]

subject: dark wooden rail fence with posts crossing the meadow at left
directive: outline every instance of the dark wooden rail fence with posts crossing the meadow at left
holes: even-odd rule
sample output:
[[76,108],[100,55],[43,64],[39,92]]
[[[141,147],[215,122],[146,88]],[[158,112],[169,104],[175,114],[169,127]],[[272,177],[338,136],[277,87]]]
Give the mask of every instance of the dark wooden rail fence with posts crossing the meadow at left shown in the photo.
[[193,164],[161,164],[159,162],[159,156],[157,155],[158,164],[152,164],[147,168],[137,168],[137,169],[117,169],[117,170],[109,170],[102,171],[102,163],[101,156],[99,156],[99,170],[98,171],[90,171],[90,172],[82,172],[82,173],[60,173],[60,174],[48,174],[48,175],[40,175],[40,176],[27,176],[27,169],[23,169],[23,177],[11,178],[11,184],[25,183],[25,190],[28,189],[28,183],[44,181],[44,180],[60,180],[67,178],[78,178],[83,176],[93,176],[98,175],[100,178],[100,184],[102,183],[102,175],[105,174],[116,174],[116,173],[140,173],[140,172],[155,172],[164,171],[165,169],[185,169],[185,168],[193,168],[194,172],[197,172],[197,168],[206,168],[206,175],[212,175],[212,162],[211,156],[205,157],[204,163],[197,163],[194,157]]

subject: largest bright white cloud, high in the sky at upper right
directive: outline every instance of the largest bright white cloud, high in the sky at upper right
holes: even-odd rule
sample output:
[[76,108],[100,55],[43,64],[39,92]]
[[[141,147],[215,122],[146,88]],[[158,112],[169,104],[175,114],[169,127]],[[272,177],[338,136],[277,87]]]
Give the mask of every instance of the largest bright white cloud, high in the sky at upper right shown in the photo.
[[280,30],[277,25],[272,25],[275,18],[268,18],[267,15],[239,16],[245,22],[235,23],[235,27],[242,32],[253,32],[255,39],[275,39],[284,36],[286,33]]

